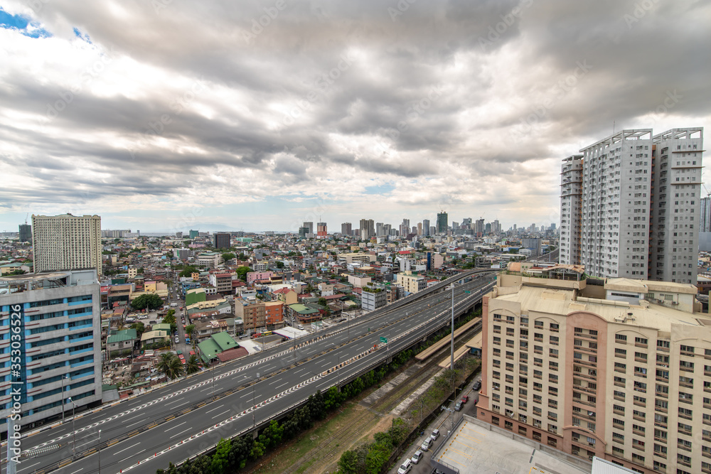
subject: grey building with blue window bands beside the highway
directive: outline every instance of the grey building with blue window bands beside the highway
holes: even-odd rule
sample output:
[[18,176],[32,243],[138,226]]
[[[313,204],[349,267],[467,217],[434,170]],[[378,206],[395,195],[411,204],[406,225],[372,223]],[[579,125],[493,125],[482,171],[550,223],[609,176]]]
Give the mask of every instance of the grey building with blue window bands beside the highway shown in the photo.
[[72,402],[101,403],[100,303],[95,269],[0,277],[0,327],[18,328],[12,340],[20,338],[12,374],[11,339],[0,342],[8,371],[0,382],[0,424],[10,414],[11,389],[19,390],[22,426],[60,416]]

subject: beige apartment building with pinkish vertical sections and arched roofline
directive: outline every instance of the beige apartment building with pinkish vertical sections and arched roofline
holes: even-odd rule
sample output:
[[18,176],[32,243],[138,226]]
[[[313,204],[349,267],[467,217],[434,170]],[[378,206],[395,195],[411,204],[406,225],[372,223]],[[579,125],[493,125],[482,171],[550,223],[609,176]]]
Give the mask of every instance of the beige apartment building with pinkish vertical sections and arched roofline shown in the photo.
[[695,293],[509,264],[483,298],[479,419],[639,473],[711,473],[711,318]]

